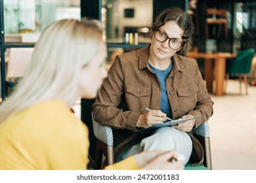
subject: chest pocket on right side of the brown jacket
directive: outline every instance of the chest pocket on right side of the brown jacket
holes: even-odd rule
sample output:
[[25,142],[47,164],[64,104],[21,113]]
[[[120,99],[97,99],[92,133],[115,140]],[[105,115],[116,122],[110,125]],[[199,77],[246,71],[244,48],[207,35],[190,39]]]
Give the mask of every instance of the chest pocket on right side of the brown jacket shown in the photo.
[[177,95],[179,98],[179,104],[181,110],[184,112],[189,112],[196,107],[196,102],[198,101],[198,86],[195,84],[190,84],[177,88]]

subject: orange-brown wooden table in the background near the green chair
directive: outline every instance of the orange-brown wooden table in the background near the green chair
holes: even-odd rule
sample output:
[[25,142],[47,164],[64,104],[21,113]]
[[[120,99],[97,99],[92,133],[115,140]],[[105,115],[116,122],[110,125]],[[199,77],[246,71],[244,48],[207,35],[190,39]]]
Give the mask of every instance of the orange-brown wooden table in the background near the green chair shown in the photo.
[[[224,80],[226,75],[226,59],[235,58],[236,54],[226,52],[202,53],[188,52],[188,58],[204,59],[204,75],[206,88],[209,93],[217,96],[224,95]],[[214,61],[214,66],[213,66]],[[215,92],[213,92],[213,79],[215,79]]]

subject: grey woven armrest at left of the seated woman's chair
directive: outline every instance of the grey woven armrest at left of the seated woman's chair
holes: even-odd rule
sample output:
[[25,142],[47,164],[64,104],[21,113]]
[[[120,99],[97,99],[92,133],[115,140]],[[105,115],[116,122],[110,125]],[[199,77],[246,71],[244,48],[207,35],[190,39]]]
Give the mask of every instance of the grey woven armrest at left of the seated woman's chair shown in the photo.
[[110,126],[101,125],[93,119],[93,132],[95,137],[107,146],[113,146],[113,133]]

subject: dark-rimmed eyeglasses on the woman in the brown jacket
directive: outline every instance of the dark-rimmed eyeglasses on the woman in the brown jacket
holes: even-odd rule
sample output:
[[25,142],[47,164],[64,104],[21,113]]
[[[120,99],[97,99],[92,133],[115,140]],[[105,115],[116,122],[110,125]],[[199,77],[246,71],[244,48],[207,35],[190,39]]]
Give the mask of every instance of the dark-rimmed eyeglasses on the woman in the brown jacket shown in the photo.
[[175,38],[169,38],[165,33],[160,31],[160,29],[156,29],[155,31],[155,39],[159,42],[165,42],[167,39],[169,39],[169,46],[173,50],[179,50],[181,46],[184,44],[183,42],[179,41],[178,39]]

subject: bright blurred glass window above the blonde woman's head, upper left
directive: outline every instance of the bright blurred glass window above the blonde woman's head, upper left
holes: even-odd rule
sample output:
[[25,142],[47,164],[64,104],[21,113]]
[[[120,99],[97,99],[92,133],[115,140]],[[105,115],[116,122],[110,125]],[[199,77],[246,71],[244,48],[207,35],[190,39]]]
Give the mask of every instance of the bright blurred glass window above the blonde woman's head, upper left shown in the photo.
[[4,15],[6,42],[36,42],[51,22],[79,19],[80,0],[5,0]]

